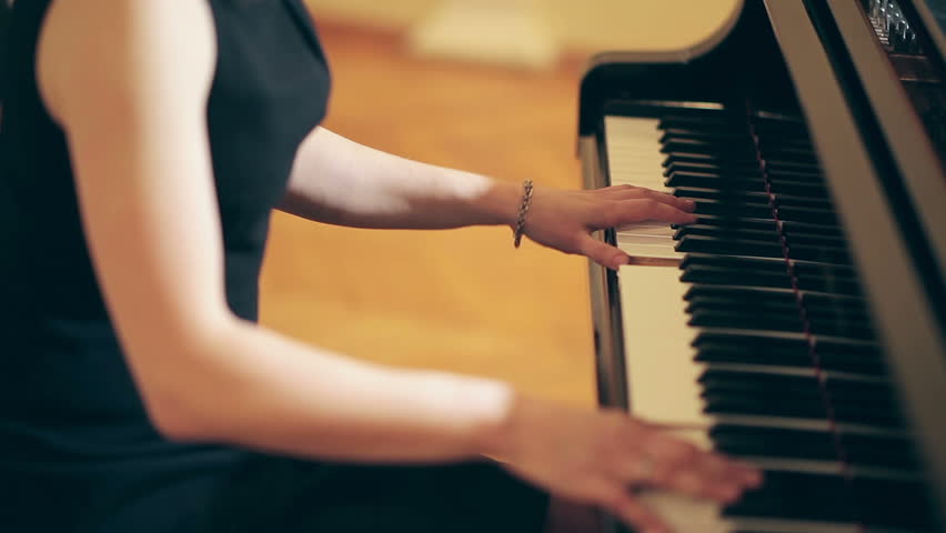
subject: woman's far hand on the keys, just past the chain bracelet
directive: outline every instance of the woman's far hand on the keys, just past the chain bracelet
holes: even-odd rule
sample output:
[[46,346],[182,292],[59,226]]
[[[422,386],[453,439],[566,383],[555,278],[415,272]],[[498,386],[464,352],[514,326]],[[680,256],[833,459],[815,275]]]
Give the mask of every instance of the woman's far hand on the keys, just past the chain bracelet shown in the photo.
[[525,219],[525,235],[565,253],[580,253],[610,269],[627,264],[627,254],[594,239],[595,230],[643,221],[695,222],[695,204],[642,187],[616,185],[594,191],[536,187]]

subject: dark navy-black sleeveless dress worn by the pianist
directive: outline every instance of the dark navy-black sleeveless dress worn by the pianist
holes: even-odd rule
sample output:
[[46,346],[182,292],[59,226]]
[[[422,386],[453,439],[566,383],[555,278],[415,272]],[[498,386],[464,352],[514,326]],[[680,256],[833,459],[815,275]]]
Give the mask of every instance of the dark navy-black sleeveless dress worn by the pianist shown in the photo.
[[[16,2],[2,63],[0,531],[461,531],[447,525],[457,514],[471,531],[534,531],[544,496],[495,467],[321,464],[154,431],[95,282],[63,132],[37,88],[51,1]],[[209,3],[227,298],[255,321],[270,212],[325,115],[330,76],[302,0]],[[502,520],[483,522],[484,506]]]

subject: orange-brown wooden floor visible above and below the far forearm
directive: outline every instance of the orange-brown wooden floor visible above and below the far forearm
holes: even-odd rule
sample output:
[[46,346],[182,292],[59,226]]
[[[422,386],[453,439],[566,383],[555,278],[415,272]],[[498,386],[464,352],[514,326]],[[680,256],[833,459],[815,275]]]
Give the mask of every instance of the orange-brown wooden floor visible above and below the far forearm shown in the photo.
[[[580,69],[529,73],[420,60],[397,38],[320,21],[334,86],[325,127],[400,155],[580,188]],[[586,260],[507,228],[442,232],[328,227],[278,213],[263,322],[392,365],[506,380],[594,403]]]

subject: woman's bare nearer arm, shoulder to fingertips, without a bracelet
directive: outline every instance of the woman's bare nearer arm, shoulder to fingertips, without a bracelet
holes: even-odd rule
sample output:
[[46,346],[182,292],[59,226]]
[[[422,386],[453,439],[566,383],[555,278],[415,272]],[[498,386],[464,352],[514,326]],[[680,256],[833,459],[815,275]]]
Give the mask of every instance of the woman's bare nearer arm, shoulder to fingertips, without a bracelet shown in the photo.
[[230,313],[204,121],[215,56],[208,6],[53,2],[40,42],[43,99],[67,132],[95,272],[159,430],[325,459],[491,454],[654,531],[660,519],[628,483],[721,501],[757,483],[751,469],[622,413],[351,361]]

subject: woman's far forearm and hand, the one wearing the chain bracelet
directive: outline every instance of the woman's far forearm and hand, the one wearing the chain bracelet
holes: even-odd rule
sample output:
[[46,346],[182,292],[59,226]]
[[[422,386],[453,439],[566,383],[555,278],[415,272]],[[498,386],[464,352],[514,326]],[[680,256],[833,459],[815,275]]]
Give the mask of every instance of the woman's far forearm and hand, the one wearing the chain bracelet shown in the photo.
[[[283,211],[358,228],[444,229],[515,224],[522,185],[411,161],[316,128],[295,158]],[[595,230],[660,220],[693,222],[693,202],[622,185],[597,191],[536,187],[525,224],[532,240],[616,269],[627,254]]]

